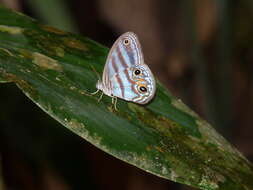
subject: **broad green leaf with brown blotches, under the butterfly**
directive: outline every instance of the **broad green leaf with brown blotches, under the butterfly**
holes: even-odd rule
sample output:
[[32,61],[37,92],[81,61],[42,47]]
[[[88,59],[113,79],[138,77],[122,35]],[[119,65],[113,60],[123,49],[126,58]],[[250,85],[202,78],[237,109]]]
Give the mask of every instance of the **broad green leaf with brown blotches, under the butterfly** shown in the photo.
[[[0,8],[0,78],[103,151],[154,175],[205,190],[253,189],[252,164],[157,84],[149,105],[91,96],[108,48]],[[93,69],[94,68],[94,69]]]

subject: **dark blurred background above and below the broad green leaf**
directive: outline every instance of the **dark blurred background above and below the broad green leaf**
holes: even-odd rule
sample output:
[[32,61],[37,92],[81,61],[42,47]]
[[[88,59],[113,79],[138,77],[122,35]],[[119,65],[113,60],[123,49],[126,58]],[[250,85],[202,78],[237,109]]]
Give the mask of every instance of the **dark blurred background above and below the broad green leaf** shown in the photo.
[[[0,0],[44,24],[111,47],[135,32],[146,63],[177,97],[253,160],[253,1]],[[190,190],[100,151],[14,84],[0,85],[6,189]]]

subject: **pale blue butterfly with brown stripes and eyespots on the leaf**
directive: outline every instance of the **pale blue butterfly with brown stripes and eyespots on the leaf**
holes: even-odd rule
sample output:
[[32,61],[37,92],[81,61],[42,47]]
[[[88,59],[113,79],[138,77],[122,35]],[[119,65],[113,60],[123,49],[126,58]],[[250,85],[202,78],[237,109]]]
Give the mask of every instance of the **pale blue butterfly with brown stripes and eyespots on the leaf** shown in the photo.
[[96,88],[116,100],[118,97],[138,104],[152,100],[156,83],[151,70],[144,63],[136,34],[126,32],[113,44],[102,80],[98,80]]

